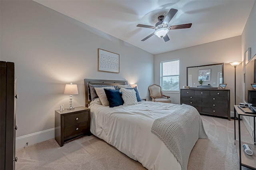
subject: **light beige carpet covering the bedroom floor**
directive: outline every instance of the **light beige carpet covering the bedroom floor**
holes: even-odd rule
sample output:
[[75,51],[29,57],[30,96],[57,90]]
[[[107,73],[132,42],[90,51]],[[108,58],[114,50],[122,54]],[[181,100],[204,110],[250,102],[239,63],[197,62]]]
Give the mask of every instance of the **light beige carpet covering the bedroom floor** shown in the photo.
[[[239,170],[234,120],[203,115],[202,120],[209,138],[196,142],[188,170]],[[238,122],[236,125],[238,133]],[[242,141],[253,142],[243,123],[241,132]],[[139,162],[93,135],[66,142],[62,147],[50,139],[21,148],[16,156],[16,170],[145,170]]]

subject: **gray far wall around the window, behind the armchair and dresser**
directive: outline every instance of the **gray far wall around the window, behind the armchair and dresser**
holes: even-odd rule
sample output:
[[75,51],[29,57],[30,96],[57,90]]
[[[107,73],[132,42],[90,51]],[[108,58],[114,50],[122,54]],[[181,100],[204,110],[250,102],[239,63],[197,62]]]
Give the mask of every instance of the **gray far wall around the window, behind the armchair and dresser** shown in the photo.
[[[180,59],[180,88],[186,85],[186,67],[224,63],[224,83],[226,89],[230,89],[230,105],[234,105],[234,67],[229,63],[241,61],[241,36],[227,38],[210,43],[204,43],[193,47],[178,49],[154,56],[154,82],[160,84],[160,62],[170,59]],[[236,79],[243,79],[242,64],[236,68]],[[241,83],[236,84],[236,102],[242,102],[243,91]],[[166,93],[173,103],[180,104],[179,93]],[[233,111],[233,107],[231,107]]]

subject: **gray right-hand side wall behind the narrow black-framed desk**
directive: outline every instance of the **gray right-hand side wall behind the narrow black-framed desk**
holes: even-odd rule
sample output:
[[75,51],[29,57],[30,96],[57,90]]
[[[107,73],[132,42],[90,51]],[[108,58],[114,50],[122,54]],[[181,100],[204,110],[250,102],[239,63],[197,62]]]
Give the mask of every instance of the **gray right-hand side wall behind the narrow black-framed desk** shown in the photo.
[[[244,61],[244,53],[251,47],[251,56],[253,57],[256,55],[256,3],[254,2],[254,6],[252,7],[252,11],[250,16],[246,22],[244,27],[244,31],[242,33],[242,61]],[[244,62],[243,65],[243,73],[244,73]],[[244,83],[242,82],[242,89],[244,92]],[[244,100],[244,93],[241,95],[242,99]],[[246,128],[252,135],[252,129],[254,126],[253,119],[249,117],[244,117],[244,122],[246,122]]]

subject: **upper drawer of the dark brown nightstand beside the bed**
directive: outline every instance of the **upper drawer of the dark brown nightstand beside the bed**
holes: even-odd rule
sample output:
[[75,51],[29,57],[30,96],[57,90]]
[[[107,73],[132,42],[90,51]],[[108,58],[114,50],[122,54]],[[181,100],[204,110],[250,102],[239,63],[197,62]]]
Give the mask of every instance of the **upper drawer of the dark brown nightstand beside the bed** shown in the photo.
[[76,113],[64,117],[64,127],[88,121],[88,112]]

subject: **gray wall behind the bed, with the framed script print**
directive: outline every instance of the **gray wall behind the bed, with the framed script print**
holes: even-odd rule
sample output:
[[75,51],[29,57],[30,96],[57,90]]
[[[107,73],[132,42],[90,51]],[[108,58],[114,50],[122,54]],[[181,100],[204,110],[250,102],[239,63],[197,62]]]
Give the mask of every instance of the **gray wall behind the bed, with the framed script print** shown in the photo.
[[[1,0],[2,61],[15,63],[16,137],[54,128],[54,110],[69,105],[66,83],[78,85],[73,106],[84,106],[84,78],[126,79],[142,98],[153,83],[153,55],[34,1]],[[98,48],[120,54],[120,73],[98,71]]]

